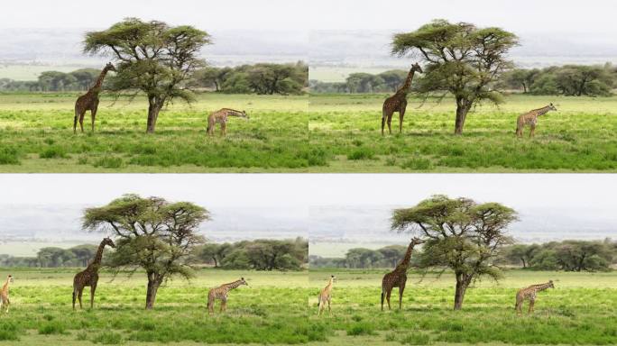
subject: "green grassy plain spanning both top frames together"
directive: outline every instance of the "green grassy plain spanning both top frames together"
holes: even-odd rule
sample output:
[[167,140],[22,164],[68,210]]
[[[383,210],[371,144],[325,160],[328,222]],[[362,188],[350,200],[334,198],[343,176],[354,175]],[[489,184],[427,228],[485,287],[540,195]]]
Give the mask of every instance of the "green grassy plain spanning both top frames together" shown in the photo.
[[[139,96],[104,96],[95,133],[73,134],[77,94],[0,95],[2,172],[614,172],[617,96],[505,97],[476,107],[454,135],[453,100],[409,98],[402,133],[381,135],[382,94],[251,96],[205,93],[169,105],[145,134]],[[519,114],[549,103],[536,136],[515,136]],[[421,105],[421,107],[419,106]],[[244,109],[227,136],[207,114]],[[386,129],[387,132],[387,129]]]

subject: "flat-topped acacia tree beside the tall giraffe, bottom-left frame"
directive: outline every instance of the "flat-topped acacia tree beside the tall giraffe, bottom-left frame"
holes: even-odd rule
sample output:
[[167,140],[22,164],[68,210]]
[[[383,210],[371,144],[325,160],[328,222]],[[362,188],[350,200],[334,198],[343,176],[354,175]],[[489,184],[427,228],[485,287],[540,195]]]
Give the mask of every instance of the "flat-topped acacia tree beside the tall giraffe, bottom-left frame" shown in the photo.
[[111,268],[145,270],[148,277],[146,309],[152,309],[161,284],[173,275],[191,278],[194,247],[204,242],[200,223],[209,220],[206,209],[189,202],[170,203],[159,197],[124,195],[108,205],[87,208],[83,229],[115,234]]

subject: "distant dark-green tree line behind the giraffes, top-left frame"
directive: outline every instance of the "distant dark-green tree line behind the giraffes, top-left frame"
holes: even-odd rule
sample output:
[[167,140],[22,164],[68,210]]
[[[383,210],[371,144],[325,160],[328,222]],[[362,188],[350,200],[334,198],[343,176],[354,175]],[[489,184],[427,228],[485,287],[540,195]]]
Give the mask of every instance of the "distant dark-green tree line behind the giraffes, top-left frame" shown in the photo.
[[[37,80],[20,81],[0,78],[0,91],[65,92],[86,91],[100,73],[95,68],[72,72],[45,71]],[[259,63],[235,68],[199,68],[189,83],[226,94],[299,95],[308,87],[309,66]]]

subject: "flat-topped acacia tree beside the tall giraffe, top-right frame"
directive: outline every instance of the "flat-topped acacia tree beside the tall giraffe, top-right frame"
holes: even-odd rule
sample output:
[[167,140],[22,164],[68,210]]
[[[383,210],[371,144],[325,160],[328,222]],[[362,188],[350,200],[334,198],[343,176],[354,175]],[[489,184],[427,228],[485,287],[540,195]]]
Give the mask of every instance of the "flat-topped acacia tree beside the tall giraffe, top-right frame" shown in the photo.
[[474,105],[502,102],[494,82],[513,67],[505,54],[517,44],[516,35],[500,28],[435,20],[415,32],[395,34],[391,52],[399,56],[412,53],[424,60],[419,92],[452,94],[456,99],[455,133],[461,134]]

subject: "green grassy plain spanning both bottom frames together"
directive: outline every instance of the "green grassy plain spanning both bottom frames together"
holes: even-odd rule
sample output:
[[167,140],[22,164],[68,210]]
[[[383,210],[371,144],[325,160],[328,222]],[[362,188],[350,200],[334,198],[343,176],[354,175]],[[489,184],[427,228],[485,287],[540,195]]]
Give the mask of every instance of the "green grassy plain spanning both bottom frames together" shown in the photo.
[[[2,270],[5,272],[6,270]],[[143,275],[105,273],[94,309],[72,311],[71,269],[12,269],[9,314],[0,318],[0,345],[167,343],[400,345],[400,344],[614,344],[617,342],[617,274],[512,269],[498,282],[470,288],[453,311],[454,278],[410,272],[397,308],[380,310],[387,269],[311,269],[246,272],[201,269],[190,281],[161,287],[152,311],[143,309]],[[317,296],[336,275],[332,314],[317,315]],[[209,287],[241,276],[249,287],[229,294],[227,311],[207,314]],[[520,287],[555,281],[539,293],[535,314],[517,316]],[[88,296],[87,289],[84,297]],[[87,298],[85,299],[87,302]],[[216,308],[218,305],[216,305]],[[526,305],[525,305],[526,307]]]

